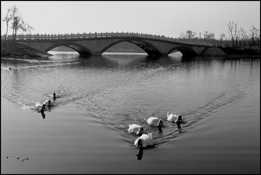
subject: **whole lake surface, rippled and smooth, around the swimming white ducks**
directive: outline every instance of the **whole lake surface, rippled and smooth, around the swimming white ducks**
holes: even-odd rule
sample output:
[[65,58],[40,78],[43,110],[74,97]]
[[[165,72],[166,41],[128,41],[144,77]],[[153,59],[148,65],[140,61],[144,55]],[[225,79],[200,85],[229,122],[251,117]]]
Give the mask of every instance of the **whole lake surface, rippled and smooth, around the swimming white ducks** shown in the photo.
[[1,58],[1,173],[260,174],[260,58],[49,53]]

